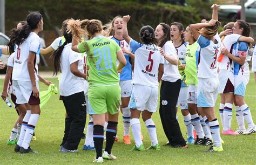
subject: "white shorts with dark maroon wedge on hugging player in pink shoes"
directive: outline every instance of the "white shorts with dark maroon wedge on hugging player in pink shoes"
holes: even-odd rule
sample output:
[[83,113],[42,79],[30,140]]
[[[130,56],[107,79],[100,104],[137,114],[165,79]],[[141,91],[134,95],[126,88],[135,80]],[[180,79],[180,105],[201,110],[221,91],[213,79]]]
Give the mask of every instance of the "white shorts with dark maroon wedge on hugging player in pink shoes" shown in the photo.
[[220,70],[219,78],[219,93],[234,92],[234,73],[227,70]]

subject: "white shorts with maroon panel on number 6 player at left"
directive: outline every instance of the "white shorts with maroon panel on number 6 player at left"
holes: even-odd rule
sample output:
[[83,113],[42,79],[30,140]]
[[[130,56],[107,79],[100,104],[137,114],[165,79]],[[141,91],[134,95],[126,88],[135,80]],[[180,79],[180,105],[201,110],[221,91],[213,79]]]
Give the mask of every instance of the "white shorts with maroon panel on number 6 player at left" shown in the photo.
[[[17,97],[16,104],[29,103],[30,105],[40,104],[40,99],[35,98],[32,95],[32,83],[31,81],[18,81],[12,80],[12,87]],[[38,81],[36,81],[36,87],[39,91]]]

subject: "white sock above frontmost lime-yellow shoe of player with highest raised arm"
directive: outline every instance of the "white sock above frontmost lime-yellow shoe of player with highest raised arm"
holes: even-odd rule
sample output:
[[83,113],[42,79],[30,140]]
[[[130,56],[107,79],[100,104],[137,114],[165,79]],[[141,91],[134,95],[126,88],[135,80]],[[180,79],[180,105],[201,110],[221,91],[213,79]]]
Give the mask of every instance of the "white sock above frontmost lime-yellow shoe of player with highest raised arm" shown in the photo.
[[213,140],[214,146],[215,147],[220,147],[221,146],[220,127],[219,127],[218,120],[214,119],[213,121],[210,121],[209,126],[210,126],[210,129],[211,129],[212,140]]

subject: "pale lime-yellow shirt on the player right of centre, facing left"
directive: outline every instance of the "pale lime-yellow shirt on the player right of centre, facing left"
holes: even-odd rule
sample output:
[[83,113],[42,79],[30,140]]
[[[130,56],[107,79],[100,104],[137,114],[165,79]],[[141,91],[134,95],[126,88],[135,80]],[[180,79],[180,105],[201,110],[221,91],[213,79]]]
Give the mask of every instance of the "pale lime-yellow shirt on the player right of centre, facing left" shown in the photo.
[[197,42],[194,42],[193,44],[187,44],[186,49],[186,67],[185,67],[185,74],[186,74],[186,80],[185,83],[187,85],[198,84],[198,78],[197,78],[197,55],[199,55],[199,44]]

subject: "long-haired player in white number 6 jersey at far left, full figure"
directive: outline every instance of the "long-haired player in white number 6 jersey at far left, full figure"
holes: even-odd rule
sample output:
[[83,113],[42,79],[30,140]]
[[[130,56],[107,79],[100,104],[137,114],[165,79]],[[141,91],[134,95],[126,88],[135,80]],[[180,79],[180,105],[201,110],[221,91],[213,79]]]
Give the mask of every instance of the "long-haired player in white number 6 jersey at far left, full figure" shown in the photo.
[[43,17],[39,12],[31,12],[26,17],[26,22],[21,29],[14,31],[16,48],[12,74],[16,103],[29,103],[31,106],[31,111],[26,111],[24,116],[21,135],[15,147],[15,152],[21,153],[33,152],[29,144],[41,112],[35,59],[40,49],[40,38],[37,34],[43,30]]

